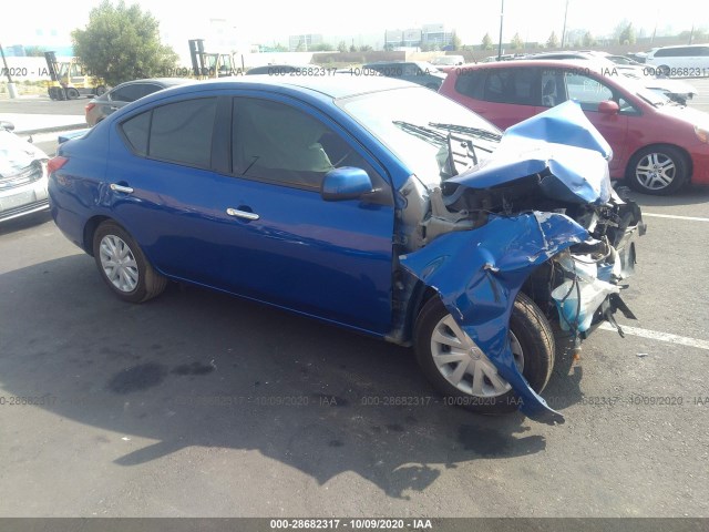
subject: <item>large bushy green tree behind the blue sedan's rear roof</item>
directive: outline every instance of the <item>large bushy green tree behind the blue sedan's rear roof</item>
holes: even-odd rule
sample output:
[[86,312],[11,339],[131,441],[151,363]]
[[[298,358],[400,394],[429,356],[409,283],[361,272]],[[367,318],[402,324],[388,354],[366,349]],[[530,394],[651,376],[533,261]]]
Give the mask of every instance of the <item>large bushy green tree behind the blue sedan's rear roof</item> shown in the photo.
[[160,40],[158,22],[135,3],[104,0],[89,13],[85,29],[71,33],[74,53],[94,75],[117,85],[138,78],[169,75],[177,54]]

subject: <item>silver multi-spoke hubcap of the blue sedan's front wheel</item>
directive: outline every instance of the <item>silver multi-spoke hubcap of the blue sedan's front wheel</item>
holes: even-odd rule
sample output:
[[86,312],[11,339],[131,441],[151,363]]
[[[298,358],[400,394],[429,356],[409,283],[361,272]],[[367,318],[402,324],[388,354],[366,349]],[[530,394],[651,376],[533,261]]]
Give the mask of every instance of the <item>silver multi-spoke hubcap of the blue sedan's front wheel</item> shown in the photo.
[[[522,372],[524,356],[520,341],[510,331],[514,364]],[[433,362],[441,375],[460,391],[476,397],[497,397],[512,388],[497,375],[497,368],[460,328],[450,314],[443,317],[431,337]]]

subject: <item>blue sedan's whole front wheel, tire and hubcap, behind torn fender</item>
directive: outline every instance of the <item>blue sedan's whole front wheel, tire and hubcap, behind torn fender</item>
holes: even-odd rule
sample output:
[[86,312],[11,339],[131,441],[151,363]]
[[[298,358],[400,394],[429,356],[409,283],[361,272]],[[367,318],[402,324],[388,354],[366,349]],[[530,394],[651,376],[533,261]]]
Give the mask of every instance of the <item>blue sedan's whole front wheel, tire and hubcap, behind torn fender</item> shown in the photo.
[[[554,334],[542,310],[524,294],[514,303],[508,338],[517,369],[535,391],[542,391],[554,368]],[[419,366],[449,403],[479,413],[517,409],[510,383],[439,297],[430,299],[419,314],[414,340]]]

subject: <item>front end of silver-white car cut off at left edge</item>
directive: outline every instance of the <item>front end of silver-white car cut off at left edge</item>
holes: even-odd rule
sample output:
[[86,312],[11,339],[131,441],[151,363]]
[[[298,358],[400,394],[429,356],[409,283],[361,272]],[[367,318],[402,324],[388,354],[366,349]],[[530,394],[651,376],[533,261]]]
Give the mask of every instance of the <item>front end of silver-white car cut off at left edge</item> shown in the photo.
[[49,208],[47,162],[39,147],[0,122],[0,223]]

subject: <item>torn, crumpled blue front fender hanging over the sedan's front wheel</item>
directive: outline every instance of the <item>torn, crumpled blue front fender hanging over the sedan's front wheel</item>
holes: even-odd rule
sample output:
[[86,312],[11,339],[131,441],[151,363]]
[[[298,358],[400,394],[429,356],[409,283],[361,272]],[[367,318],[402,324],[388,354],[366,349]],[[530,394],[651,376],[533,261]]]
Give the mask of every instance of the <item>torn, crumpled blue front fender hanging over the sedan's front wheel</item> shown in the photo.
[[537,421],[564,422],[564,418],[530,387],[514,365],[507,336],[510,316],[530,274],[588,236],[564,214],[491,216],[477,229],[441,235],[400,257],[404,268],[440,294],[455,321],[517,393],[520,410]]

